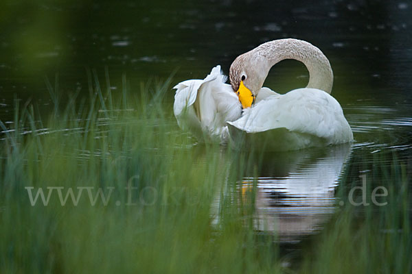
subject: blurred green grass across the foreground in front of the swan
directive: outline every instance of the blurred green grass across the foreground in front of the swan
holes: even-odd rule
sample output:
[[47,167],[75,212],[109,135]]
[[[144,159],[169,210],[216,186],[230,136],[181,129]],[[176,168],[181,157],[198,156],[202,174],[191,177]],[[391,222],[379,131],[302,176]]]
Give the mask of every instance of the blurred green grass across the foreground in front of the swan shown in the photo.
[[[396,160],[372,165],[391,186],[387,206],[346,203],[320,234],[285,251],[276,235],[254,231],[253,199],[233,199],[260,155],[193,146],[163,100],[170,80],[134,96],[111,95],[94,77],[87,100],[62,100],[58,81],[47,86],[48,119],[16,103],[14,122],[0,124],[0,273],[411,271],[409,180]],[[336,197],[357,184],[350,178]],[[55,187],[47,206],[40,196],[32,206],[28,192],[42,188],[46,199],[47,187]],[[83,188],[77,206],[60,202],[58,189],[65,198],[69,188],[74,197]]]

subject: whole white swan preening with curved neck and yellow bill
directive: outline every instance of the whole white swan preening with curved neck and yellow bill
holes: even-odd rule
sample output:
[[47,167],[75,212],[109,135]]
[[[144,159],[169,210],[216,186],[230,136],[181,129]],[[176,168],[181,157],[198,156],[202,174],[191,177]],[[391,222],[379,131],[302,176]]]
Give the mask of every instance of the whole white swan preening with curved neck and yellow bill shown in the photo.
[[[285,95],[262,88],[271,67],[284,59],[306,65],[310,75],[306,88]],[[220,66],[214,68],[217,69]],[[175,86],[176,119],[179,126],[189,129],[197,138],[201,136],[196,132],[201,132],[202,136],[226,142],[230,135],[238,147],[244,148],[246,142],[246,147],[261,145],[266,150],[278,151],[353,140],[341,105],[329,95],[333,84],[330,63],[310,43],[274,40],[236,58],[229,76],[238,98],[224,84],[224,76],[216,75],[214,70],[203,81],[189,80]],[[243,113],[235,99],[239,99]]]

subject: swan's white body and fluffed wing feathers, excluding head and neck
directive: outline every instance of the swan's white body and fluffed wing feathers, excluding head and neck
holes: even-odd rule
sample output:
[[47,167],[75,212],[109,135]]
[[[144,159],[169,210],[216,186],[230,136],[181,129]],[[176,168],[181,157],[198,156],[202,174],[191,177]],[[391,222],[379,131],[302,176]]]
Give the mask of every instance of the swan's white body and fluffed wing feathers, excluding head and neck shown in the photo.
[[[255,105],[242,113],[226,79],[216,66],[203,80],[174,86],[174,115],[179,127],[199,141],[226,143],[230,132],[240,149],[244,145],[249,148],[253,142],[266,150],[286,151],[353,140],[341,105],[323,90],[299,88],[279,95],[262,88]],[[241,142],[239,136],[249,144]]]

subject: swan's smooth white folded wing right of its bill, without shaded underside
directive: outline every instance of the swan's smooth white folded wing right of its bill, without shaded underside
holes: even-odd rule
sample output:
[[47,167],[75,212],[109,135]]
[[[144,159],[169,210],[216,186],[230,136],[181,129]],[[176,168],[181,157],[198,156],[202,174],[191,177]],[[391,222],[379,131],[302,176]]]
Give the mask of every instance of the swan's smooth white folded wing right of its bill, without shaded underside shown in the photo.
[[353,139],[338,101],[314,88],[299,88],[285,95],[268,97],[244,110],[242,118],[230,124],[247,133],[284,128],[334,143]]

